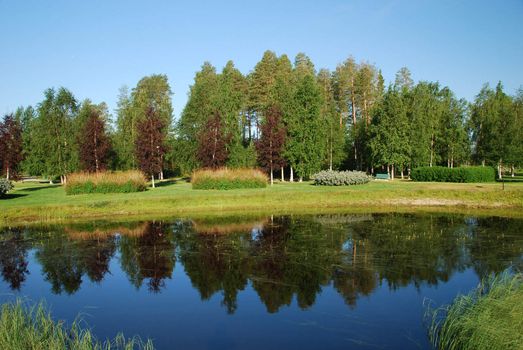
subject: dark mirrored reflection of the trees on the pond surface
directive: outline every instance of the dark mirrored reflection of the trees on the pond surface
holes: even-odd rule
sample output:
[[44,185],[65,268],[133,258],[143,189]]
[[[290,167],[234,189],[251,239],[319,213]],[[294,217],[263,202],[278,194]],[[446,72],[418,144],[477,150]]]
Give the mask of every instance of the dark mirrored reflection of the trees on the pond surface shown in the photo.
[[[522,224],[323,215],[9,228],[0,234],[0,269],[13,291],[23,289],[29,271],[40,270],[53,293],[74,294],[86,279],[103,285],[110,266],[119,266],[136,289],[162,293],[178,261],[201,299],[221,295],[231,314],[248,285],[269,313],[293,300],[307,309],[330,285],[354,307],[383,284],[420,288],[471,267],[480,278],[508,266],[521,269]],[[28,266],[30,252],[39,269]]]

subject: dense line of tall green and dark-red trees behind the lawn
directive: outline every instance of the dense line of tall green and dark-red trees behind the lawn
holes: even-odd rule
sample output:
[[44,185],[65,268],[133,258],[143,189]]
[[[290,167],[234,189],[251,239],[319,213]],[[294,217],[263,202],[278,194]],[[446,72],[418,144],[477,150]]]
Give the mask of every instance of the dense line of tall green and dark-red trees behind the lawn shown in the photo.
[[0,123],[3,173],[60,177],[74,171],[164,171],[260,166],[282,180],[321,169],[404,176],[418,166],[523,165],[523,90],[485,85],[474,101],[437,82],[415,83],[349,57],[330,71],[305,54],[294,62],[266,51],[247,75],[232,61],[205,62],[177,120],[165,75],[122,88],[115,118],[105,103],[48,89],[34,108]]

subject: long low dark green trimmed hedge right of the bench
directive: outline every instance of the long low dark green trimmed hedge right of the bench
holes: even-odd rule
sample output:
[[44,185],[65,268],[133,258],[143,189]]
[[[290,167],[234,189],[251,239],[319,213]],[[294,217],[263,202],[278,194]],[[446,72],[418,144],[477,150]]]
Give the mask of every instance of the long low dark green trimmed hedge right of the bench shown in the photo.
[[483,166],[419,167],[412,170],[410,178],[414,181],[425,182],[493,182],[496,180],[496,169]]

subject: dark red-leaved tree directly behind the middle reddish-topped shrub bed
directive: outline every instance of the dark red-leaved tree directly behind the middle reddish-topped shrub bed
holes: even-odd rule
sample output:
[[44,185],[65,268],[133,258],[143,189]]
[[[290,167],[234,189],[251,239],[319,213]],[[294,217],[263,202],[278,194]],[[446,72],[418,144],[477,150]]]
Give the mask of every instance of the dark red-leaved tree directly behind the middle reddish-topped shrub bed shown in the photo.
[[226,135],[223,129],[221,115],[215,112],[198,135],[197,158],[204,168],[222,167],[229,157],[227,145],[231,135]]

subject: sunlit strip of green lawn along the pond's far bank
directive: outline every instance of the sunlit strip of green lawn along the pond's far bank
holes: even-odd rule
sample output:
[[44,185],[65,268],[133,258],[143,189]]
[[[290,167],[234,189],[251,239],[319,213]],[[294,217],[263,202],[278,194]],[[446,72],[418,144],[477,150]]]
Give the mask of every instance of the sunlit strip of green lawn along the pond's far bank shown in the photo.
[[128,194],[67,196],[60,185],[17,183],[0,199],[0,225],[91,219],[305,214],[323,212],[460,211],[523,216],[523,184],[450,184],[373,181],[319,187],[276,183],[263,189],[193,190],[183,180]]

